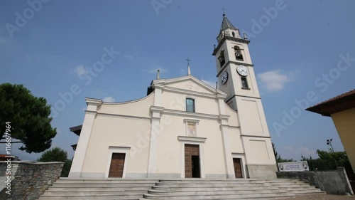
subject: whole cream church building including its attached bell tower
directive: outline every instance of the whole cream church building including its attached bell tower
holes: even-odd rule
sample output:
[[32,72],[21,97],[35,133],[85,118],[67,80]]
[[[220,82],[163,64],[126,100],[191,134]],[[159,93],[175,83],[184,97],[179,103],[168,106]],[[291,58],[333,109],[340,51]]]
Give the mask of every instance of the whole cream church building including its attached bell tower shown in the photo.
[[223,15],[218,89],[188,74],[157,78],[146,97],[86,98],[70,178],[275,178],[278,170],[249,40]]

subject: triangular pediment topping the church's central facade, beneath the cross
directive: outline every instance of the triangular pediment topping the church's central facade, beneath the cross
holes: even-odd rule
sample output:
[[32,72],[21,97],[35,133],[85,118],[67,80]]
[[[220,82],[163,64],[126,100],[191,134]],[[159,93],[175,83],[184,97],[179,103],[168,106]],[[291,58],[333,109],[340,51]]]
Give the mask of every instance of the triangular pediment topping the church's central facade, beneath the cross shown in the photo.
[[164,87],[168,88],[188,90],[209,95],[225,94],[221,90],[216,91],[216,88],[213,88],[211,85],[204,83],[202,80],[199,80],[192,75],[186,75],[179,78],[153,80],[153,85],[164,85]]

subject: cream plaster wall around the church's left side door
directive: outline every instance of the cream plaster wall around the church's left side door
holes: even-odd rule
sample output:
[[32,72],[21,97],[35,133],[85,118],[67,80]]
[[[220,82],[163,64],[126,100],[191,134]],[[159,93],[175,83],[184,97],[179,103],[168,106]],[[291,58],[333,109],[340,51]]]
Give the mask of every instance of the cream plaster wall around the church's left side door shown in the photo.
[[[106,173],[109,146],[131,147],[126,155],[126,173],[146,173],[148,169],[151,121],[139,118],[107,117],[99,115],[94,121],[92,135],[82,167],[82,173]],[[136,153],[133,153],[136,152]]]

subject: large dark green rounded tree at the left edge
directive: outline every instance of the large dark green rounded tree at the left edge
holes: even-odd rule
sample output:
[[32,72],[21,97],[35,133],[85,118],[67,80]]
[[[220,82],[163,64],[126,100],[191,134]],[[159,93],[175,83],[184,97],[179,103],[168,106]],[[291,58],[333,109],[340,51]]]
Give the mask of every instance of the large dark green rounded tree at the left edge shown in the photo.
[[43,152],[50,148],[57,131],[50,125],[50,105],[23,85],[0,85],[0,143],[5,141],[6,122],[11,122],[11,143],[22,143],[22,151]]

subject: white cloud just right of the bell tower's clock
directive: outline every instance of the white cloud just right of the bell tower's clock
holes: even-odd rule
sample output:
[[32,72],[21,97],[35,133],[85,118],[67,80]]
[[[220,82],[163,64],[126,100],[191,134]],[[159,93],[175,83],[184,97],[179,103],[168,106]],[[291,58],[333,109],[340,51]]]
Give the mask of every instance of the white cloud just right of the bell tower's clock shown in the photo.
[[282,90],[285,83],[291,81],[295,77],[295,73],[281,73],[281,70],[271,70],[257,75],[261,88],[275,92]]

